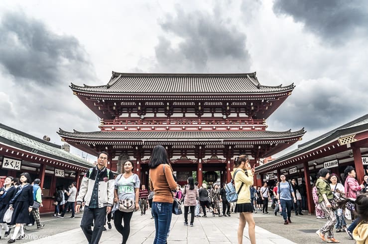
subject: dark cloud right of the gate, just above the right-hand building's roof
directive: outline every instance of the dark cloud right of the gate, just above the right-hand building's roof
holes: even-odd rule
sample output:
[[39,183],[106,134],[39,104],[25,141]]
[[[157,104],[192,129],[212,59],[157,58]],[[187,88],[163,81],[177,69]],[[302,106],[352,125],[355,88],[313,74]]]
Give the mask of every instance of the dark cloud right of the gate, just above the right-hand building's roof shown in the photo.
[[293,131],[302,127],[309,132],[327,131],[366,114],[368,105],[361,102],[364,99],[358,87],[349,87],[342,81],[304,81],[275,111],[270,122]]

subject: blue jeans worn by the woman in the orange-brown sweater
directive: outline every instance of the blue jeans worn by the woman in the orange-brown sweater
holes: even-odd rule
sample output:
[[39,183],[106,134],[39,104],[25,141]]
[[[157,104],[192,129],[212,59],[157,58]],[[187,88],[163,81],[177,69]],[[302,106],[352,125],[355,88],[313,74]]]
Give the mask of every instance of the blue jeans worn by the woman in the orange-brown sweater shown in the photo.
[[153,244],[165,244],[170,229],[172,203],[152,202],[152,213],[156,229]]

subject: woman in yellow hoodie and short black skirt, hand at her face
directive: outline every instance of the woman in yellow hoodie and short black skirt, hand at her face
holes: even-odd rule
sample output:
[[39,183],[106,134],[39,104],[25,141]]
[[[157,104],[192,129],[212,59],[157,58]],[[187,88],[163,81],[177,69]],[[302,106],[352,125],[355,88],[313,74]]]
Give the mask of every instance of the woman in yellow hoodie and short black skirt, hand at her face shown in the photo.
[[249,186],[253,184],[253,174],[254,168],[250,167],[248,156],[241,155],[235,158],[234,169],[231,175],[234,177],[235,189],[239,192],[237,205],[235,206],[235,212],[239,213],[238,243],[243,243],[243,233],[246,222],[248,223],[250,243],[255,244],[255,223],[249,190]]

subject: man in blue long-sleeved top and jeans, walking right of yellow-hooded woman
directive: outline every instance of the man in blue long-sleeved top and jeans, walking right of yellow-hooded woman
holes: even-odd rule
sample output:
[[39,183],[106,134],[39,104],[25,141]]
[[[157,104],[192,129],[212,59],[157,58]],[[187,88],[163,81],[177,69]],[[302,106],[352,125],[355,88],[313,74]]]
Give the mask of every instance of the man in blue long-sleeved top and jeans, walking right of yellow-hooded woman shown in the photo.
[[[292,200],[296,202],[294,189],[291,184],[286,181],[285,174],[280,175],[280,182],[278,183],[276,198],[280,200],[281,204],[281,215],[284,219],[284,225],[291,223],[291,207]],[[292,198],[291,198],[292,197]]]

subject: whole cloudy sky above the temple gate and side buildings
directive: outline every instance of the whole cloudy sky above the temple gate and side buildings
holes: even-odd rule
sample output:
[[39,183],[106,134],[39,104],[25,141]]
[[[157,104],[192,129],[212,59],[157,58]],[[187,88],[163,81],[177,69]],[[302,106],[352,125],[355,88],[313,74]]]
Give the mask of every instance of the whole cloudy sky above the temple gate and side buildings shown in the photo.
[[257,72],[294,82],[268,130],[305,127],[306,142],[367,114],[367,23],[360,0],[1,0],[0,123],[61,144],[59,127],[99,124],[70,82]]

